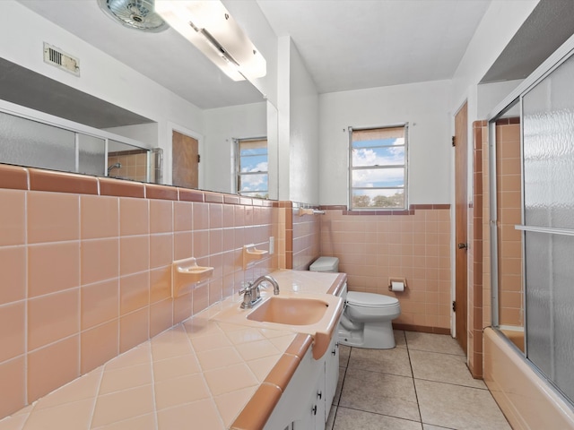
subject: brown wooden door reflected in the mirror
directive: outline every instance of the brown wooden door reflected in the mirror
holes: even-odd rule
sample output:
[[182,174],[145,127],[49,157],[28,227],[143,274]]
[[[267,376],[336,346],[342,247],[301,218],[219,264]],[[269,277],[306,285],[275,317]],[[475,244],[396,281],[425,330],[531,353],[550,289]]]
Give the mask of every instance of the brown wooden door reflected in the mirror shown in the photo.
[[171,135],[171,184],[186,188],[199,186],[199,142],[173,131]]

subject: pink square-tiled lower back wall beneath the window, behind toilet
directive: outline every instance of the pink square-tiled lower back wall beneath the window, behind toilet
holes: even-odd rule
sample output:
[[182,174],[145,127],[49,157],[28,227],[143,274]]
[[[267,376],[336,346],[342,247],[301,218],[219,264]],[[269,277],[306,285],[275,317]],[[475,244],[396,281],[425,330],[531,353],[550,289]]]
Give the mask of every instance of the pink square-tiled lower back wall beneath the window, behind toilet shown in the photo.
[[[401,215],[321,216],[322,255],[339,258],[351,291],[397,297],[395,323],[432,329],[450,327],[450,211],[448,205]],[[428,208],[428,209],[427,209]],[[388,290],[389,278],[406,278],[404,293]]]

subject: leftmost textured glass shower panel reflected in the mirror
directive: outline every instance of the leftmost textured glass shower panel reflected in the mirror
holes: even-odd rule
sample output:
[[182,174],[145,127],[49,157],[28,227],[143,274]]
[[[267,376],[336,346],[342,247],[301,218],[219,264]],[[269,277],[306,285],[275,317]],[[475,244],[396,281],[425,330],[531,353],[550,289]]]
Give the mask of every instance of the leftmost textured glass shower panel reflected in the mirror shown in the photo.
[[74,133],[0,112],[0,162],[74,172]]

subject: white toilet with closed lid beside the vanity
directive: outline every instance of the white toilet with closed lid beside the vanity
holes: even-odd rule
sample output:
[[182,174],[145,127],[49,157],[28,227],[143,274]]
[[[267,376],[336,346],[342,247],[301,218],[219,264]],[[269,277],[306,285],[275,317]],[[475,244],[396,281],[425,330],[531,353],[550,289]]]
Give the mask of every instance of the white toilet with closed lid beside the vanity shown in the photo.
[[[309,266],[309,271],[337,272],[339,259],[319,257]],[[396,297],[347,292],[346,284],[341,297],[345,300],[345,308],[338,328],[340,344],[356,348],[395,348],[391,322],[401,314]]]

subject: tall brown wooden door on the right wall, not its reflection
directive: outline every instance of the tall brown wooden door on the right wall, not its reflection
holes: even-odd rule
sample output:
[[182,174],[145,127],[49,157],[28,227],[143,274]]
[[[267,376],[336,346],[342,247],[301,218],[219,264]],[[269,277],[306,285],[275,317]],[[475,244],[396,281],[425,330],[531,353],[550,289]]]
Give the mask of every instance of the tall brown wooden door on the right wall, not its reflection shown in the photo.
[[468,328],[466,323],[466,303],[467,303],[467,249],[468,239],[466,236],[467,218],[466,211],[468,207],[468,124],[467,104],[460,108],[455,116],[455,199],[456,199],[456,331],[457,340],[461,348],[467,353],[466,343],[468,338]]

